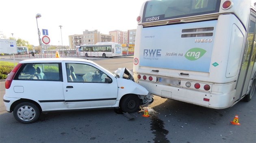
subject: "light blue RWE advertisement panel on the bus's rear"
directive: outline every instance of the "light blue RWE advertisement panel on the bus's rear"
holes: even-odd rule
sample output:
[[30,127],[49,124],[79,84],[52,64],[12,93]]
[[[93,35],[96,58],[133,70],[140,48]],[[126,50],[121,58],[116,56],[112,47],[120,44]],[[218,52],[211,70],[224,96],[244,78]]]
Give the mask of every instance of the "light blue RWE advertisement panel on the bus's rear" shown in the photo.
[[[207,25],[215,29],[217,21],[147,27],[141,31],[140,64],[146,67],[209,72],[214,30],[208,38],[189,36],[187,29]],[[175,34],[174,34],[175,33]],[[182,38],[181,38],[182,37]],[[161,47],[161,48],[160,48]]]

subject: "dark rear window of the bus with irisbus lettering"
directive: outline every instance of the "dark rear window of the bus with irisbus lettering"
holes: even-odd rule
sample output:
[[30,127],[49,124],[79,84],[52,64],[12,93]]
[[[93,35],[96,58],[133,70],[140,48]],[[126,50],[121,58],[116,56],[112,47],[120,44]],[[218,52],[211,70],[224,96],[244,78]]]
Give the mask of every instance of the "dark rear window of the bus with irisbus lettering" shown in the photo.
[[218,13],[221,0],[151,0],[146,2],[142,22]]

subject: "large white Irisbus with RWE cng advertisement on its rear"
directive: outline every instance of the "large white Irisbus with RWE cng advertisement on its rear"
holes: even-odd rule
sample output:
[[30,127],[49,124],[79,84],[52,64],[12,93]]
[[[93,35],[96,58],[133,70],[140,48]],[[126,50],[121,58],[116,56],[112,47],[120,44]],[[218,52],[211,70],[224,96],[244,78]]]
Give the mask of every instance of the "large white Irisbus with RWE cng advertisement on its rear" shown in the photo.
[[214,109],[254,95],[250,0],[151,0],[137,21],[134,78],[153,95]]

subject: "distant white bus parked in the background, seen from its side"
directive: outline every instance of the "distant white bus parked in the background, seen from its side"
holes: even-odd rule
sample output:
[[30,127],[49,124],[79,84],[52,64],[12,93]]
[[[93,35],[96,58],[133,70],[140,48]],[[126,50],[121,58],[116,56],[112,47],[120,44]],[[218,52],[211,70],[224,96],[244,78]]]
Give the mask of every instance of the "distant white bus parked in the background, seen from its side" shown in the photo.
[[95,45],[80,46],[80,55],[86,57],[117,57],[122,56],[121,44],[115,42],[98,42]]

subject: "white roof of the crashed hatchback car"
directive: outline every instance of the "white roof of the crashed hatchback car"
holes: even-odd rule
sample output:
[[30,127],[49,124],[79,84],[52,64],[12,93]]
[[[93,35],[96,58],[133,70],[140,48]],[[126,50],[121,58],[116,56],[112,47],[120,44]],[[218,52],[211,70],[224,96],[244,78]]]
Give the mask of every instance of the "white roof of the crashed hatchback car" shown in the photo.
[[20,61],[20,63],[60,63],[62,61],[82,61],[87,63],[94,63],[88,59],[79,59],[79,58],[37,58],[37,59],[27,59]]

